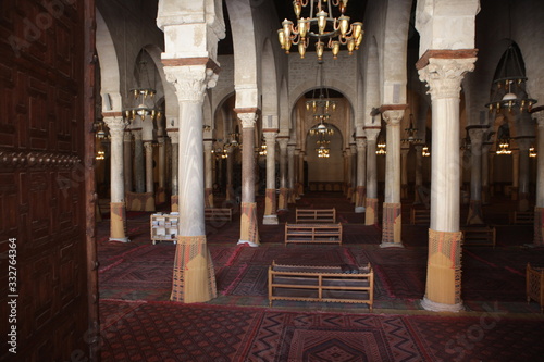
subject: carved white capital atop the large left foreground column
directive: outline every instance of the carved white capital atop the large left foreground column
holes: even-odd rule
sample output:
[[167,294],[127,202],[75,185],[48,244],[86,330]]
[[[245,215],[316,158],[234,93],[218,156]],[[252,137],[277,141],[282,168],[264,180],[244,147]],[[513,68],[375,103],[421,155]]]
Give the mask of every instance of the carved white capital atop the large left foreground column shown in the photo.
[[174,85],[178,102],[203,102],[206,89],[218,80],[218,74],[206,64],[164,66],[164,75]]

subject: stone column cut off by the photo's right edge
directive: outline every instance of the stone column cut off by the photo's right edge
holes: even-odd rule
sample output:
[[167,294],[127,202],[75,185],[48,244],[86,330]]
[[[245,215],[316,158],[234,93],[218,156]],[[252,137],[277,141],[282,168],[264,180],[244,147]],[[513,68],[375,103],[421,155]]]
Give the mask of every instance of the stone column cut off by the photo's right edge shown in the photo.
[[536,113],[536,200],[534,205],[535,246],[544,246],[544,112]]

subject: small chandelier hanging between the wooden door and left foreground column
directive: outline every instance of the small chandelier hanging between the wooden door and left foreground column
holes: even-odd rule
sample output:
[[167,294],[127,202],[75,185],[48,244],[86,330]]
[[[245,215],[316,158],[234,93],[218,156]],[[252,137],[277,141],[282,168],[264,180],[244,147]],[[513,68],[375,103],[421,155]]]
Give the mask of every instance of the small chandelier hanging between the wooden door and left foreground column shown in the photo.
[[[137,116],[141,121],[145,121],[146,117],[151,118],[151,121],[159,120],[162,116],[162,112],[154,104],[153,98],[157,95],[157,90],[151,87],[151,83],[149,82],[147,62],[139,62],[138,78],[138,87],[129,90],[137,105],[123,110],[123,115],[128,122],[134,122]],[[147,82],[145,86],[144,82]]]

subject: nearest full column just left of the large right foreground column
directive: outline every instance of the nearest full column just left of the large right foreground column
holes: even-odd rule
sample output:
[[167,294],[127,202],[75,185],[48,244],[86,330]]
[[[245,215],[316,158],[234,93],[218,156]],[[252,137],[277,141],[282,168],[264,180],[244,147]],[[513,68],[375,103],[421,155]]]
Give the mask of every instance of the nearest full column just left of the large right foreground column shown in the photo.
[[387,124],[385,154],[385,197],[383,202],[382,244],[380,247],[403,247],[403,215],[400,204],[400,121],[406,105],[382,107]]

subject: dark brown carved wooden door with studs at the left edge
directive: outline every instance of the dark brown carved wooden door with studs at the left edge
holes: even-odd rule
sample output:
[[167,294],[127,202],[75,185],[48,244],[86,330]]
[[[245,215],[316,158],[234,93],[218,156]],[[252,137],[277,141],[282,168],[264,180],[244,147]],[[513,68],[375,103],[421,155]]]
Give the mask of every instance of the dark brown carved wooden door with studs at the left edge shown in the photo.
[[96,360],[94,18],[0,2],[0,360]]

